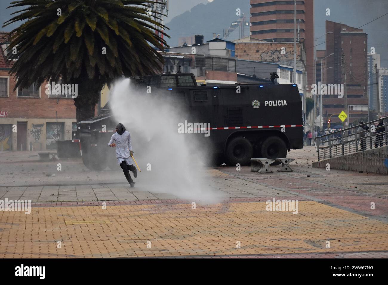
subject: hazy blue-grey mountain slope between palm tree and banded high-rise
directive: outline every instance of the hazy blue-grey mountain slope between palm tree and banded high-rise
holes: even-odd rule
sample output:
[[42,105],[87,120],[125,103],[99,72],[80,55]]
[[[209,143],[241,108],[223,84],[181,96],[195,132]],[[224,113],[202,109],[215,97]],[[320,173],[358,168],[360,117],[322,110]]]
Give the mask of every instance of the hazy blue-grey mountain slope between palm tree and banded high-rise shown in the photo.
[[170,28],[166,33],[171,37],[166,39],[167,43],[170,47],[175,47],[179,37],[198,34],[204,35],[204,41],[213,39],[213,33],[220,34],[220,38],[223,38],[223,30],[239,19],[236,9],[241,9],[241,15],[245,13],[249,21],[250,7],[249,0],[214,0],[206,4],[200,3],[166,24]]

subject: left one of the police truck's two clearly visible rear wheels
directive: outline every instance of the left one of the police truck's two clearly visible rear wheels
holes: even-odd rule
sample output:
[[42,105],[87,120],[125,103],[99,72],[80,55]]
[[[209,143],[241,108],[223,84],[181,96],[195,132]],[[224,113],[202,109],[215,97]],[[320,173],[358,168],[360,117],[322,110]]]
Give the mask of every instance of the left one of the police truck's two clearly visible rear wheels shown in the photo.
[[248,165],[252,158],[253,148],[249,140],[239,136],[228,143],[225,154],[231,166],[236,166],[237,163]]

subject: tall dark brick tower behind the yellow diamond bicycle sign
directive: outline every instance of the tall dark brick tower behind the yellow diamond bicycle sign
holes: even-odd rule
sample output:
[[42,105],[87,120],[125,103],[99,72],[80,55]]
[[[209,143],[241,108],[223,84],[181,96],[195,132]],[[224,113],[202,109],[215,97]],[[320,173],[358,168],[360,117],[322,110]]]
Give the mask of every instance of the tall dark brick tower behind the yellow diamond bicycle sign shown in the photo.
[[[325,123],[329,116],[340,114],[341,111],[348,114],[350,124],[357,123],[359,119],[367,119],[367,46],[367,34],[362,29],[326,21],[326,55],[334,55],[327,57],[323,63],[326,67],[323,71],[323,83],[344,84],[346,73],[348,111],[345,110],[345,96],[338,98],[338,95],[324,95]],[[331,125],[333,123],[342,124],[337,115],[331,117]]]

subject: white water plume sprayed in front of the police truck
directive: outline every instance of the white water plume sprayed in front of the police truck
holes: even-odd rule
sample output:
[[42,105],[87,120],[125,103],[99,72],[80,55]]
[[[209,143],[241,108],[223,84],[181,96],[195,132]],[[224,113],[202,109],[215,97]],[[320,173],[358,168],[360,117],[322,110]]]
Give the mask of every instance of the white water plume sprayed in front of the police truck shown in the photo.
[[179,102],[155,90],[147,93],[145,86],[132,89],[130,80],[112,86],[109,102],[116,122],[131,133],[134,157],[142,171],[133,190],[170,193],[203,204],[220,202],[201,163],[207,154],[196,138],[202,134],[178,133],[178,123],[185,120]]

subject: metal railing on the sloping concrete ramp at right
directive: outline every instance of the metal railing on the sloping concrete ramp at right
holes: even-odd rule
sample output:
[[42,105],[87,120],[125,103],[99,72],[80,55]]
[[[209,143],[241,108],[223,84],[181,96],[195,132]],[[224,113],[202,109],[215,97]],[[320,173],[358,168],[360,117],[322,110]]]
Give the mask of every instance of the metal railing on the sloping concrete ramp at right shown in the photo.
[[318,161],[388,145],[388,117],[317,136],[314,145]]

